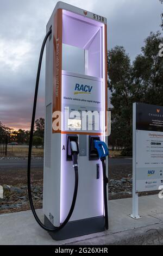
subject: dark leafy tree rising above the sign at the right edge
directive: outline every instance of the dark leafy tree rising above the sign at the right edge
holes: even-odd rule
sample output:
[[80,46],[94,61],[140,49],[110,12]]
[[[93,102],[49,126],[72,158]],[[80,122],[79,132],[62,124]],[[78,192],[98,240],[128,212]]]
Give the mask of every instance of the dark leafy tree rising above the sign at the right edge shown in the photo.
[[163,42],[160,32],[151,33],[145,40],[142,53],[133,64],[133,101],[163,105],[163,58],[159,45]]

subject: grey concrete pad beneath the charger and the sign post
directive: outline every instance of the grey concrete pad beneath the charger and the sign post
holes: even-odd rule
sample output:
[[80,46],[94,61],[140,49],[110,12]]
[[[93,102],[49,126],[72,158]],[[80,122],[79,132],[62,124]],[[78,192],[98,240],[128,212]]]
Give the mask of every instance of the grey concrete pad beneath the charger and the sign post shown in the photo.
[[[31,211],[0,215],[0,245],[162,245],[163,204],[157,195],[139,198],[139,220],[131,214],[131,198],[109,201],[109,230],[54,241],[35,222]],[[43,212],[37,210],[42,222]]]

